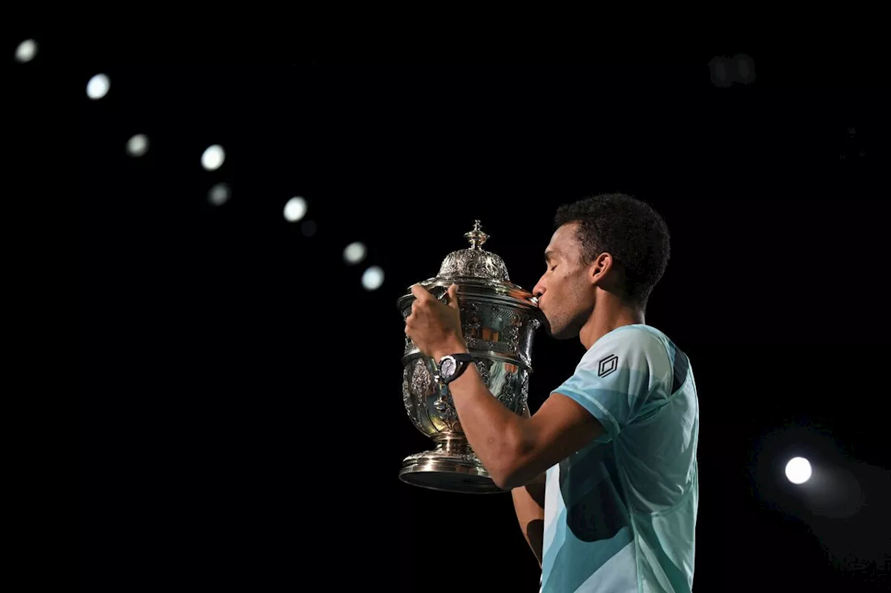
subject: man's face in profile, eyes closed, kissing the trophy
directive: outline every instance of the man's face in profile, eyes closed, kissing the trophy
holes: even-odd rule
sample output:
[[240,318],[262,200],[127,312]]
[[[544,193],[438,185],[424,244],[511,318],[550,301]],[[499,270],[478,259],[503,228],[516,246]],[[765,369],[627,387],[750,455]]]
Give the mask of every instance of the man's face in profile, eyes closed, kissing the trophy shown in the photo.
[[532,289],[548,333],[559,340],[578,336],[594,307],[591,266],[582,263],[577,230],[578,223],[568,223],[554,232],[544,250],[547,269]]

